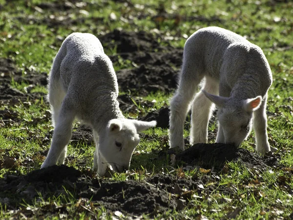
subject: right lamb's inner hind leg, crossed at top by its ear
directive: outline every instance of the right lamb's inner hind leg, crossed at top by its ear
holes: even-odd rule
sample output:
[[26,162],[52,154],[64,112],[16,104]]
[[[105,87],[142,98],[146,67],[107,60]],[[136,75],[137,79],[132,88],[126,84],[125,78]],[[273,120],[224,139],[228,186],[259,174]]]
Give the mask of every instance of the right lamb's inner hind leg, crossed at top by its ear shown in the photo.
[[[211,94],[218,93],[219,85],[212,78],[206,77],[203,89]],[[208,125],[214,105],[200,91],[196,94],[191,107],[190,144],[208,142]]]

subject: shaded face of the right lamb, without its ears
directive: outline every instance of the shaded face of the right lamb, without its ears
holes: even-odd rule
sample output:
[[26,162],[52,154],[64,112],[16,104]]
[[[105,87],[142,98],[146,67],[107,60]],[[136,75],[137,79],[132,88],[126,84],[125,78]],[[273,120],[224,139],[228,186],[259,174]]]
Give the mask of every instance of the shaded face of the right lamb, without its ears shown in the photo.
[[218,120],[223,129],[225,143],[239,147],[251,132],[252,112],[221,108]]

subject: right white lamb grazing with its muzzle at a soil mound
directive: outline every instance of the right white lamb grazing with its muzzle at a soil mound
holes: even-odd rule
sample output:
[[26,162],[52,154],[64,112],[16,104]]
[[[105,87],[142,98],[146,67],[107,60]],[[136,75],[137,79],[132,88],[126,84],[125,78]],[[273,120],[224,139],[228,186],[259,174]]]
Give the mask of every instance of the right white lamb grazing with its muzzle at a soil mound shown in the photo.
[[[203,90],[195,95],[202,80]],[[190,144],[207,143],[214,103],[219,108],[216,142],[238,147],[251,132],[253,113],[256,151],[269,152],[266,103],[271,84],[261,48],[220,27],[199,29],[185,43],[179,85],[170,102],[170,147],[184,150],[183,126],[193,99]]]

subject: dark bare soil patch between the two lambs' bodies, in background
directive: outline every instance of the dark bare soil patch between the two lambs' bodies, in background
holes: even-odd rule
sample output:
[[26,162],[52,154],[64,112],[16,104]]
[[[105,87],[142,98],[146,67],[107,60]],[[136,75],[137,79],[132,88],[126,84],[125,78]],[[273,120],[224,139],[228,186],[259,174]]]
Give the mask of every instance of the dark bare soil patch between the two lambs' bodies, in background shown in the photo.
[[158,43],[159,38],[143,31],[119,30],[99,37],[103,44],[116,46],[117,55],[110,56],[113,62],[121,57],[137,66],[116,72],[122,91],[147,95],[156,91],[169,93],[176,88],[183,49],[173,48],[167,43],[167,46],[162,46]]

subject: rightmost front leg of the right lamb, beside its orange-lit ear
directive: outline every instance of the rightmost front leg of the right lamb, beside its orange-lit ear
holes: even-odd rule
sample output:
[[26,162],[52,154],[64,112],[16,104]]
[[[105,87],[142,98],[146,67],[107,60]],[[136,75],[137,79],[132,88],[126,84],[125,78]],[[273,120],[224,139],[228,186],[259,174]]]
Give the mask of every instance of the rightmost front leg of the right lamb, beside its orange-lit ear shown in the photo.
[[270,144],[268,141],[266,106],[267,95],[264,97],[264,100],[262,101],[260,108],[253,112],[253,126],[256,139],[256,152],[258,154],[265,154],[271,151]]

